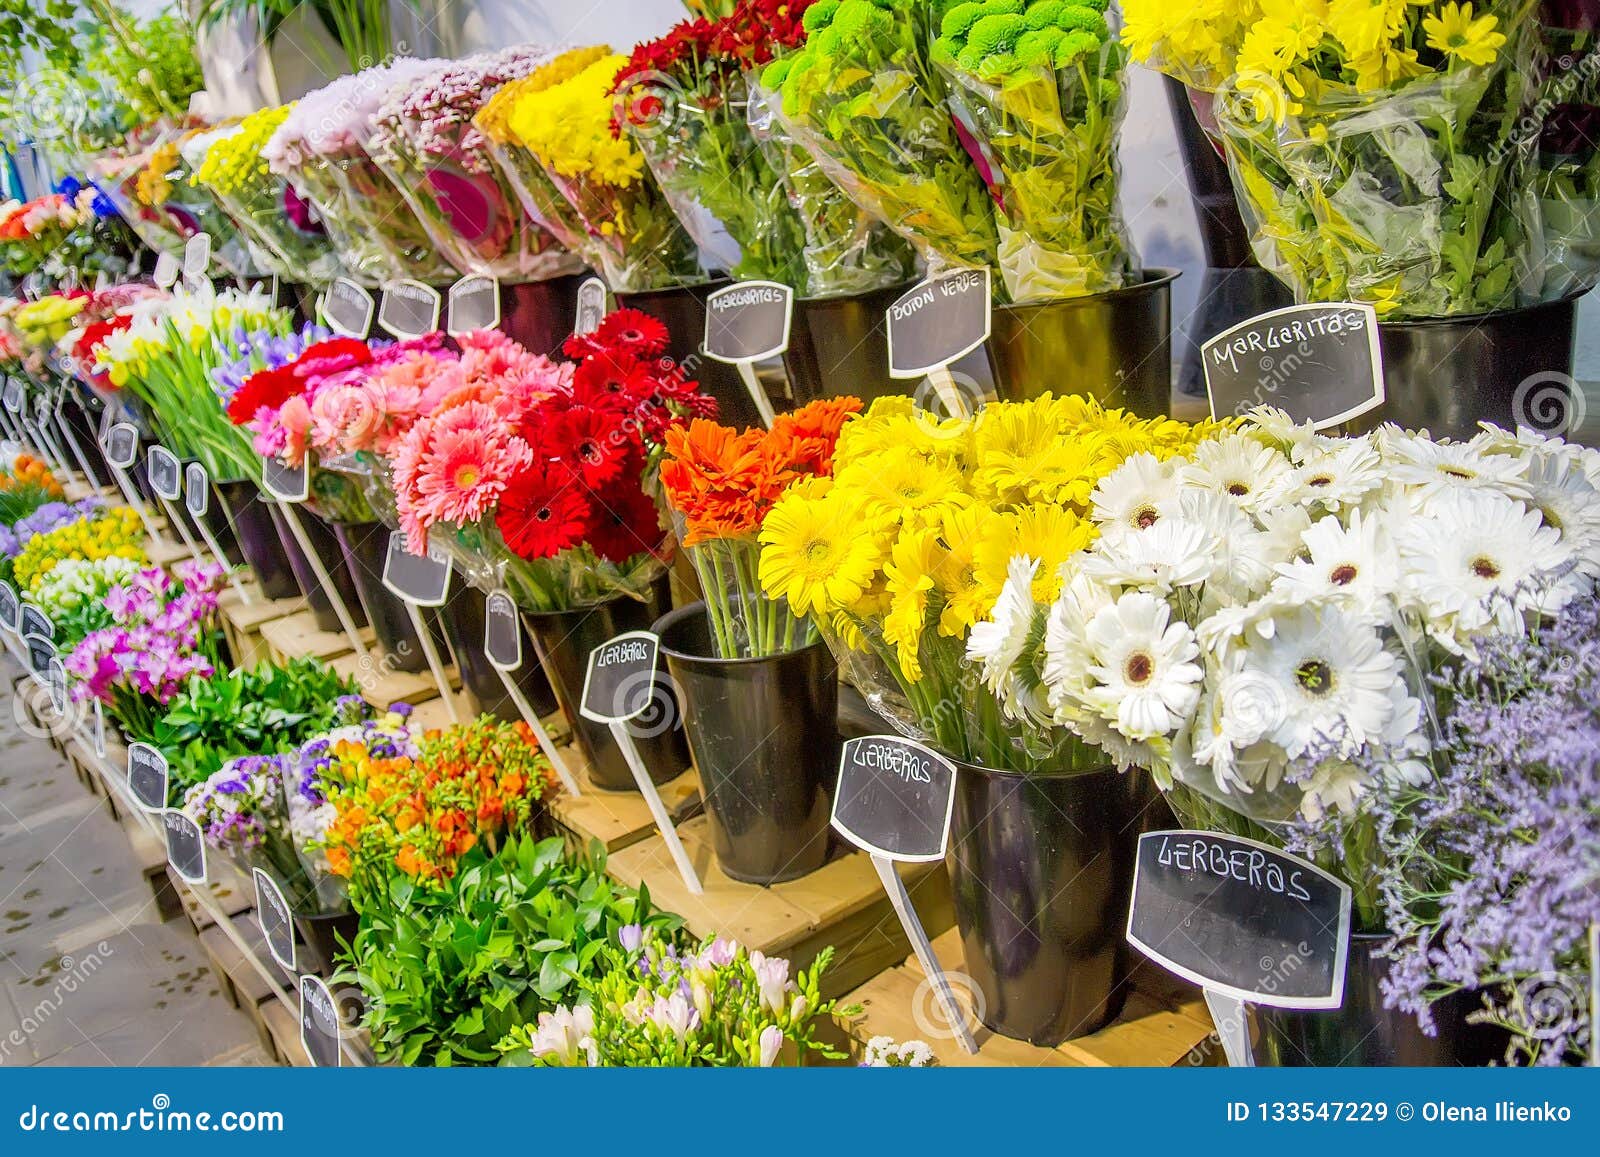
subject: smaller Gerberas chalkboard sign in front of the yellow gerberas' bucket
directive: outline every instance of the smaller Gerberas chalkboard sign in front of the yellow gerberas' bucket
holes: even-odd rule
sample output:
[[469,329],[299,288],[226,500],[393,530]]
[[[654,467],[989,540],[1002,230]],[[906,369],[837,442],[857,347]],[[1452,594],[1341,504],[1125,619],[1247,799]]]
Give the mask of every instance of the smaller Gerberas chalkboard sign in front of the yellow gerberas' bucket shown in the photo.
[[944,859],[955,765],[898,735],[848,739],[838,757],[834,829],[885,859]]

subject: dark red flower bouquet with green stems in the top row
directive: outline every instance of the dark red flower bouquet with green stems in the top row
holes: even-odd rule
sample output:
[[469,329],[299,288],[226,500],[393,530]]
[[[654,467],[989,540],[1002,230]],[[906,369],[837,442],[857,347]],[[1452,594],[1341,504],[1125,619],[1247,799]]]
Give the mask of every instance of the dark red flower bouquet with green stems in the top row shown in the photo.
[[746,69],[803,38],[808,3],[744,0],[728,19],[683,21],[616,77],[619,118],[678,219],[739,280],[803,274],[800,216],[750,131]]

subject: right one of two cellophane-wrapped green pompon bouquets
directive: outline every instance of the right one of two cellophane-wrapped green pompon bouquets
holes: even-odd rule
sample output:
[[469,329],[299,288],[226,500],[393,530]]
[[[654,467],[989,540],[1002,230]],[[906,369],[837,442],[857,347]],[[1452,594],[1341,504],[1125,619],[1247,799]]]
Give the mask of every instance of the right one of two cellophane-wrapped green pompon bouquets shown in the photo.
[[1091,6],[1034,0],[949,10],[933,61],[995,202],[998,267],[1016,302],[1118,290],[1138,259],[1117,205],[1126,50]]

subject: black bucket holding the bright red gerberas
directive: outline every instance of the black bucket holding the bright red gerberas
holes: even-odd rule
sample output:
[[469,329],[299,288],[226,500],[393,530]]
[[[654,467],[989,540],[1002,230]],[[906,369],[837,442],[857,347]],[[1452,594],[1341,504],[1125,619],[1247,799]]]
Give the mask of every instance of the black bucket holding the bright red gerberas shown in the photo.
[[[624,631],[648,631],[661,615],[666,599],[659,594],[648,603],[618,595],[597,607],[574,611],[523,611],[523,623],[533,634],[539,663],[550,687],[562,701],[562,714],[573,739],[589,763],[589,781],[603,791],[638,791],[622,751],[611,738],[611,728],[578,714],[584,695],[589,653]],[[629,723],[634,743],[650,778],[664,784],[690,767],[690,749],[683,739],[682,712],[672,688],[662,682],[661,696],[650,712]]]

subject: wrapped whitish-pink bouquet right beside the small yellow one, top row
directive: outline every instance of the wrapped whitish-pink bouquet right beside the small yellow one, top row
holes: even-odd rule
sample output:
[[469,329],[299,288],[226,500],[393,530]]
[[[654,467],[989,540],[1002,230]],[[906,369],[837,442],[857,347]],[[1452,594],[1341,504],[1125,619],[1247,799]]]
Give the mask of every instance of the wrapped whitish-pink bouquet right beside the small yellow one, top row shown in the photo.
[[363,285],[453,277],[400,190],[363,149],[384,96],[442,64],[402,56],[339,77],[302,96],[261,149],[267,168],[312,203],[344,272]]

